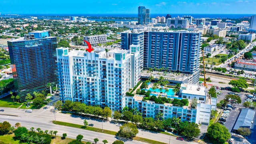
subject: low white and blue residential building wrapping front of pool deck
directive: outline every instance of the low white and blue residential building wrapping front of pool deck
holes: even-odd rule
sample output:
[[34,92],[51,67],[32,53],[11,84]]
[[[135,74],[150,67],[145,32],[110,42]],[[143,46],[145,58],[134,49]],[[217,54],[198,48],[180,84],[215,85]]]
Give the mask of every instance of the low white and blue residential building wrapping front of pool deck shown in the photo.
[[[180,97],[167,96],[167,98],[183,99],[187,98],[189,101],[188,106],[174,106],[173,104],[164,103],[157,104],[154,101],[143,100],[142,95],[126,96],[125,103],[129,108],[137,108],[142,112],[143,117],[156,118],[160,112],[163,114],[163,119],[177,117],[182,122],[195,122],[196,124],[204,124],[206,126],[210,123],[211,110],[216,109],[217,98],[208,96],[208,91],[204,86],[194,84],[181,84]],[[192,108],[192,99],[196,98],[197,106]]]

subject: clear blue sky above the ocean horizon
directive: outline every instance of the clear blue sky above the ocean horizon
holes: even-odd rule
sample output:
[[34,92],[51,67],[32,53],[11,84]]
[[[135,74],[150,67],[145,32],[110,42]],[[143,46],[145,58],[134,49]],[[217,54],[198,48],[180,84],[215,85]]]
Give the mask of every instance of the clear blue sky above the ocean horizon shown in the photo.
[[2,14],[255,14],[256,0],[0,0]]

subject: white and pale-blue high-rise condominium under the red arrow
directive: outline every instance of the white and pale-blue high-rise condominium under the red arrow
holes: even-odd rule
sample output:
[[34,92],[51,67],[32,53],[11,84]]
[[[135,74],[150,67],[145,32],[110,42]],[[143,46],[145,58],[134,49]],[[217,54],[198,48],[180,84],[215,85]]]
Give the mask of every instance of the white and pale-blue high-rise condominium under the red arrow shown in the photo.
[[125,106],[126,92],[140,81],[139,46],[128,50],[57,48],[60,100],[108,106],[112,111]]

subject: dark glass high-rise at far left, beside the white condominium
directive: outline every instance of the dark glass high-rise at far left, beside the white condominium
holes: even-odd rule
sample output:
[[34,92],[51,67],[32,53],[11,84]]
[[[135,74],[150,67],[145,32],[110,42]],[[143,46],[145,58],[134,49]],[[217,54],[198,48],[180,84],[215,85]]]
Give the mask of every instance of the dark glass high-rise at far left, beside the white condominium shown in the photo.
[[24,38],[8,41],[16,94],[24,101],[34,91],[56,84],[56,37],[48,31],[29,32]]

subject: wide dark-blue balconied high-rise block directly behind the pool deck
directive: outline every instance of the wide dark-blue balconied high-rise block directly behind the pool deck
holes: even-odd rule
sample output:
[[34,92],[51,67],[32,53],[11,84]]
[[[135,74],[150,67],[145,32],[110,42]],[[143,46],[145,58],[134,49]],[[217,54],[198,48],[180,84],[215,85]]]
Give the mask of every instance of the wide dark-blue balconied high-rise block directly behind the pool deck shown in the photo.
[[201,32],[151,31],[145,32],[144,37],[148,39],[144,44],[144,67],[186,74],[198,71]]

